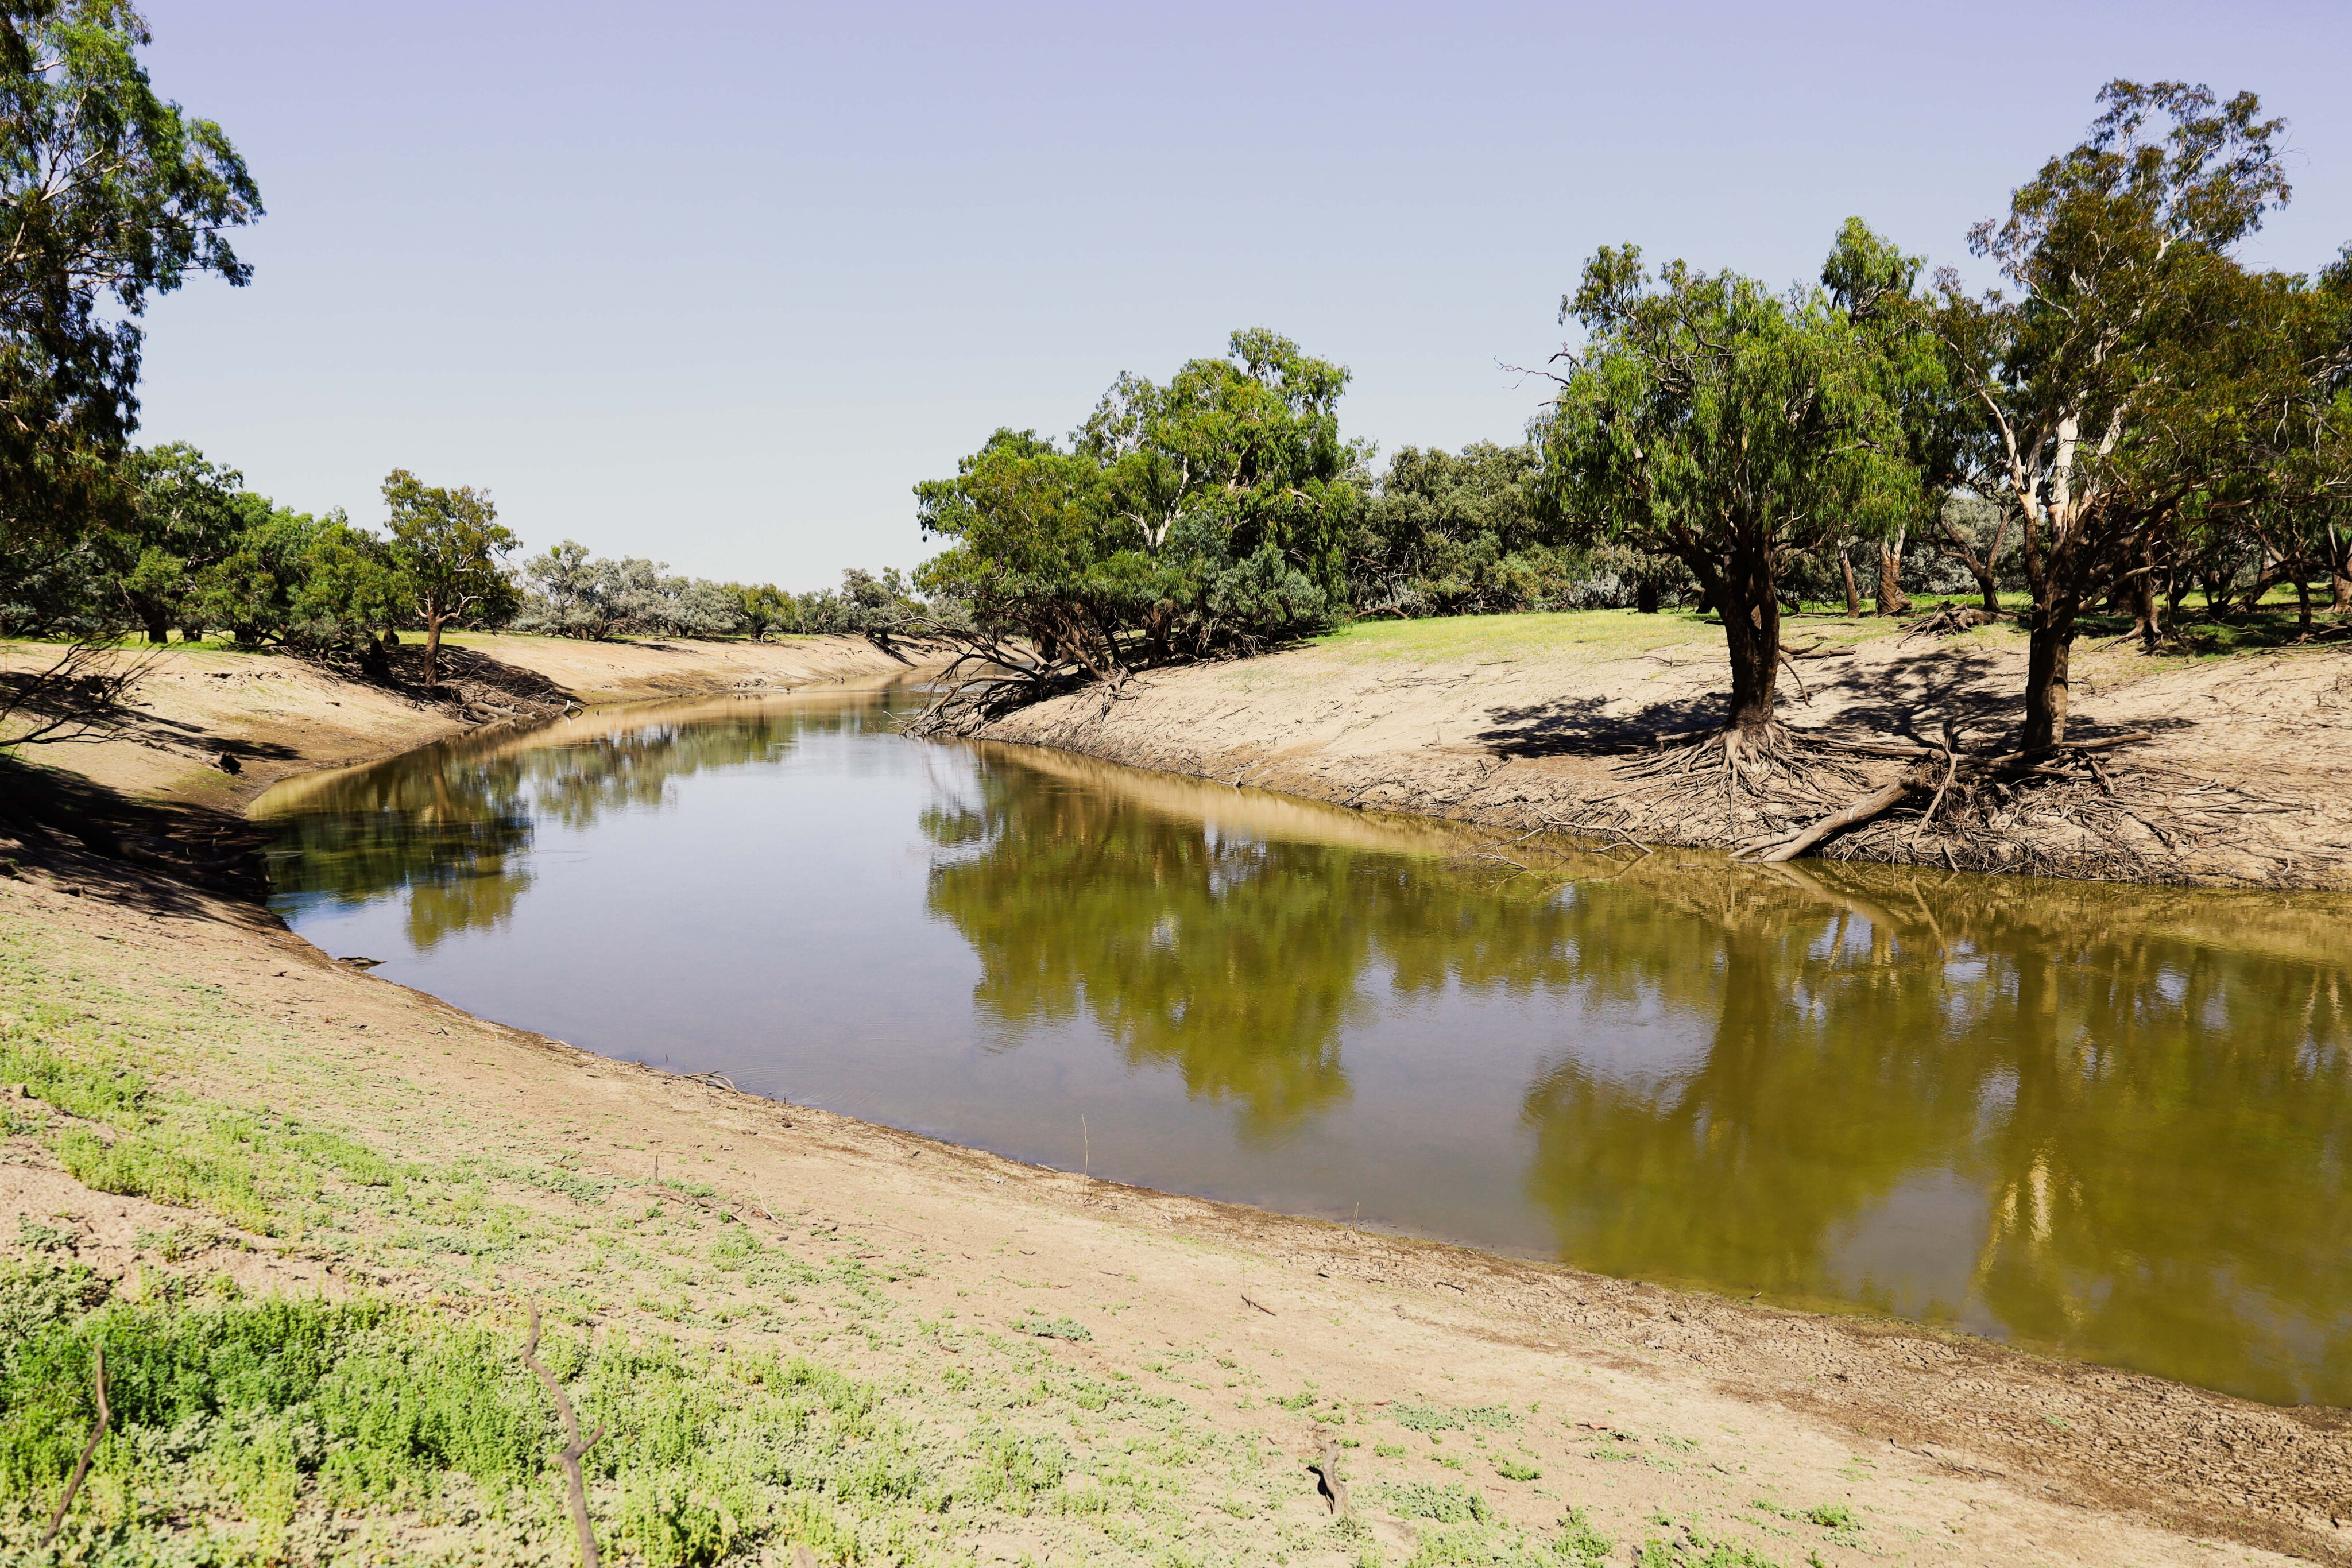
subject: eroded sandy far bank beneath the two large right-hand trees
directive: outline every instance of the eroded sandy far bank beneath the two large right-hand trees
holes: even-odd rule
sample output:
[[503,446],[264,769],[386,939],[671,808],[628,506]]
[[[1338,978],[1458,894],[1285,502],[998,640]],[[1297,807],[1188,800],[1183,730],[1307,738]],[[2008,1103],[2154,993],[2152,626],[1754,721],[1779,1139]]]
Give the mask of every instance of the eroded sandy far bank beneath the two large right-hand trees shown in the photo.
[[[1799,738],[1964,750],[2013,741],[2025,642],[1809,618],[1783,672]],[[1232,785],[1512,832],[1731,849],[1828,816],[1917,762],[1818,748],[1802,788],[1661,771],[1661,741],[1717,722],[1722,632],[1585,611],[1352,628],[1315,646],[1091,689],[983,726]],[[1828,858],[2213,886],[2352,886],[2352,649],[2152,658],[2084,644],[2072,738],[2147,733],[2070,778],[1950,792],[1835,835]]]

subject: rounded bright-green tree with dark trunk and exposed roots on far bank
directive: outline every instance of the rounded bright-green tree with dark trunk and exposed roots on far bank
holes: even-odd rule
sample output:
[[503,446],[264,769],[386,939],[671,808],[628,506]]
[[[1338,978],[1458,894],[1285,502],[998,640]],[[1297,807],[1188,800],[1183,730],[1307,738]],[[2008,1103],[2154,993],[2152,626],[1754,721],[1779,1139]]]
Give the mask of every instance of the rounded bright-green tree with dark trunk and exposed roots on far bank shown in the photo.
[[[1860,287],[1900,261],[1849,223],[1832,270]],[[1917,263],[1905,263],[1917,266]],[[1903,280],[1907,287],[1907,277]],[[1639,247],[1585,263],[1562,320],[1585,327],[1536,421],[1571,529],[1670,555],[1724,616],[1731,705],[1719,743],[1778,743],[1780,578],[1792,557],[1884,534],[1917,484],[1884,334],[1828,289],[1771,292]]]

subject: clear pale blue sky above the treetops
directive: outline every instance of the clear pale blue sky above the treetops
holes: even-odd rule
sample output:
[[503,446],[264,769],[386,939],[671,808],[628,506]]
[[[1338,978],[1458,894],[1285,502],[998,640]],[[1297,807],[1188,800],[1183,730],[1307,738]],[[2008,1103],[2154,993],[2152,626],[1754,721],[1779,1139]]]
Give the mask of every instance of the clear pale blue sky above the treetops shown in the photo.
[[2352,240],[2352,5],[148,0],[268,219],[148,315],[143,440],[306,510],[388,468],[534,548],[830,583],[908,487],[1275,327],[1383,451],[1515,440],[1496,362],[1632,240],[1776,282],[1846,214],[1964,249],[2114,75],[2251,87]]

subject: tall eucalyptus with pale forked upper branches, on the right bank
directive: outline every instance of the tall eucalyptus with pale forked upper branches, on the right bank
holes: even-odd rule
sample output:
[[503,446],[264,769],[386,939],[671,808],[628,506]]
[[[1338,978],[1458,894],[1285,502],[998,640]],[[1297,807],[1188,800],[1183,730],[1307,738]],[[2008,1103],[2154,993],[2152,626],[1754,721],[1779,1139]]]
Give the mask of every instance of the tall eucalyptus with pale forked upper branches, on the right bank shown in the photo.
[[2126,557],[2256,451],[2253,411],[2232,402],[2256,369],[2225,360],[2260,299],[2230,249],[2288,197],[2281,122],[2251,92],[2220,103],[2206,87],[2117,80],[2098,101],[2091,134],[2020,186],[2006,219],[1969,233],[2016,294],[1938,280],[1980,484],[2018,520],[2034,752],[2065,741],[2084,597],[2150,576],[2152,559]]

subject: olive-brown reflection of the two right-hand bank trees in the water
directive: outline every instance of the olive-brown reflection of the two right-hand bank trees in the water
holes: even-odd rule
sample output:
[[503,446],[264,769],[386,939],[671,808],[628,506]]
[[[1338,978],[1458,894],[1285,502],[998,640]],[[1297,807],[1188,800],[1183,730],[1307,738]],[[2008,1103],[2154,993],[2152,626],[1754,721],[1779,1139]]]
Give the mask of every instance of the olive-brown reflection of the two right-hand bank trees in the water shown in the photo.
[[[1529,1091],[1562,1255],[2352,1394],[2340,903],[1863,867],[1571,903],[1597,987],[1712,1030],[1686,1074],[1571,1053]],[[1978,1241],[1957,1298],[1905,1300],[1842,1253],[1931,1175],[1976,1194]]]

